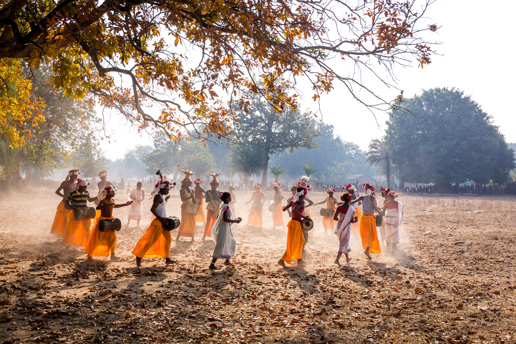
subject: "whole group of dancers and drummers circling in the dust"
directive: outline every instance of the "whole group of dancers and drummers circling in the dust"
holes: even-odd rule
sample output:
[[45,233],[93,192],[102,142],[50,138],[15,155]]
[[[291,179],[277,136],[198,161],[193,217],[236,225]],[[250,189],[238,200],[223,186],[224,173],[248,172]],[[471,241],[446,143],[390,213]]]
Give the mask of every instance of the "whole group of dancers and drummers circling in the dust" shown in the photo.
[[[209,269],[218,269],[215,265],[217,259],[225,259],[224,265],[231,266],[230,258],[235,255],[236,251],[236,240],[232,234],[232,225],[242,221],[241,218],[236,218],[234,188],[230,187],[229,191],[219,192],[218,186],[220,183],[217,181],[217,177],[221,173],[212,173],[213,180],[209,183],[211,188],[204,190],[201,187],[202,179],[197,178],[192,182],[190,176],[193,173],[184,166],[183,168],[180,166],[180,170],[185,174],[185,177],[181,181],[181,220],[176,240],[179,240],[180,237],[189,237],[193,241],[196,224],[202,222],[204,223],[203,240],[209,236],[215,242],[213,259]],[[66,248],[70,245],[79,245],[84,248],[88,254],[88,259],[94,256],[109,255],[112,260],[119,259],[115,255],[116,231],[102,232],[99,230],[99,223],[101,220],[113,219],[112,211],[114,208],[129,206],[130,211],[126,226],[129,225],[131,219],[137,220],[137,226],[139,226],[139,221],[143,217],[142,201],[145,196],[141,189],[141,183],[138,183],[135,189],[128,190],[126,203],[115,204],[113,198],[117,189],[107,181],[106,171],[99,173],[101,178],[101,182],[97,185],[99,193],[93,198],[86,190],[87,181],[78,178],[78,175],[78,170],[71,170],[66,180],[56,190],[56,194],[61,196],[62,200],[57,206],[51,233],[62,236],[62,242],[66,244]],[[353,227],[356,227],[356,230],[359,231],[364,254],[368,259],[372,259],[370,256],[372,253],[381,253],[375,211],[384,218],[380,227],[381,240],[386,242],[388,250],[392,249],[393,252],[396,250],[396,244],[399,243],[399,226],[403,217],[403,204],[396,201],[398,197],[396,192],[381,188],[384,203],[383,208],[380,209],[374,186],[367,183],[362,184],[365,195],[359,196],[356,187],[348,184],[343,187],[342,191],[344,192],[340,196],[340,201],[334,196],[337,191],[328,189],[326,199],[315,204],[308,198],[310,191],[308,181],[309,177],[301,177],[301,181],[292,187],[292,195],[286,200],[284,206],[282,204],[284,196],[281,193],[280,184],[273,184],[275,194],[273,201],[269,204],[269,210],[272,211],[273,226],[285,228],[284,211],[287,211],[291,218],[286,225],[286,250],[278,261],[280,266],[285,268],[285,263],[292,264],[294,259],[297,260],[298,265],[303,264],[302,254],[309,238],[309,231],[303,228],[301,222],[313,221],[310,207],[318,204],[325,204],[326,209],[333,210],[333,216],[323,216],[322,224],[326,230],[333,230],[339,240],[335,259],[335,264],[338,266],[342,266],[340,263],[342,254],[346,257],[346,263],[351,260],[349,257],[351,252],[349,241]],[[192,184],[195,184],[193,189],[191,188]],[[170,189],[174,186],[175,183],[169,183],[166,176],[160,175],[155,189],[151,192],[152,206],[150,210],[153,219],[132,252],[136,257],[138,267],[141,266],[143,257],[162,257],[165,258],[165,264],[167,265],[176,263],[175,260],[170,258],[171,232],[165,230],[164,227],[168,226],[169,221],[171,221],[170,218],[167,218],[166,202],[170,198]],[[88,202],[96,204],[93,230],[91,231],[91,218],[76,220],[73,216],[73,212],[77,209],[86,209]],[[247,224],[248,226],[262,227],[265,194],[262,192],[262,185],[259,183],[254,185],[254,192],[246,204],[251,202]],[[360,205],[362,205],[362,210],[359,209]],[[204,208],[206,208],[206,212],[204,212]]]

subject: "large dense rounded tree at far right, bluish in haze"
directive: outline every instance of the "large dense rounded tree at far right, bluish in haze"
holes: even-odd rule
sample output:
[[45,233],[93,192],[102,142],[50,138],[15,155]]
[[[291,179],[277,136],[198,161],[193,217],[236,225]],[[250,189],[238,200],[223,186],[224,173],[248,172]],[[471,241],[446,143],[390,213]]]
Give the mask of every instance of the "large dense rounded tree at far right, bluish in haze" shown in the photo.
[[445,184],[466,180],[504,183],[514,168],[513,150],[470,96],[433,88],[406,99],[413,114],[392,112],[387,135],[401,182]]

